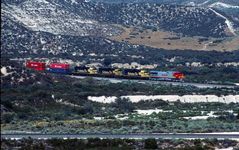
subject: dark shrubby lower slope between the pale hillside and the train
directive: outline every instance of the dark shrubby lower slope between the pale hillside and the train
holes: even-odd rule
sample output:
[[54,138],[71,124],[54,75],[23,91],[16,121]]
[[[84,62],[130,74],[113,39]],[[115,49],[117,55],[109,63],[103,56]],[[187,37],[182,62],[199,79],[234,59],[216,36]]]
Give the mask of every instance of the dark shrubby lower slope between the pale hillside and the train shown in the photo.
[[[4,5],[2,6],[3,10],[5,9]],[[86,5],[88,7],[88,5],[90,4],[81,3],[81,5]],[[166,5],[164,7],[166,7]],[[97,7],[95,6],[95,8]],[[132,8],[134,7],[132,6]],[[85,10],[91,9],[93,9],[93,7],[89,7]],[[80,10],[84,11],[84,9]],[[82,14],[88,15],[88,18],[90,18],[90,16],[92,15],[87,12],[84,12]],[[128,42],[115,42],[113,40],[98,36],[73,36],[64,34],[56,35],[50,32],[34,31],[30,27],[24,25],[24,23],[19,23],[18,21],[14,20],[4,11],[2,11],[1,20],[1,54],[7,55],[11,58],[53,58],[57,56],[58,58],[67,58],[79,61],[85,60],[91,62],[102,62],[105,58],[110,58],[111,60],[113,60],[113,62],[120,63],[131,63],[133,61],[136,61],[138,63],[159,63],[158,60],[164,60],[166,62],[167,59],[179,56],[182,57],[184,61],[190,62],[215,62],[214,60],[217,58],[218,60],[225,62],[238,61],[238,52],[236,51],[227,53],[225,55],[227,55],[228,57],[224,57],[223,55],[221,55],[221,53],[215,52],[191,53],[190,51],[188,51],[185,53],[180,53],[178,51],[166,51],[164,49],[150,48],[139,44],[129,44]],[[211,44],[216,44],[218,42],[220,43],[220,40],[214,40]],[[208,56],[205,56],[205,54],[207,54],[208,56],[214,55],[217,56],[217,58],[214,57],[212,59],[207,59],[205,57]],[[142,58],[146,59],[143,60]]]

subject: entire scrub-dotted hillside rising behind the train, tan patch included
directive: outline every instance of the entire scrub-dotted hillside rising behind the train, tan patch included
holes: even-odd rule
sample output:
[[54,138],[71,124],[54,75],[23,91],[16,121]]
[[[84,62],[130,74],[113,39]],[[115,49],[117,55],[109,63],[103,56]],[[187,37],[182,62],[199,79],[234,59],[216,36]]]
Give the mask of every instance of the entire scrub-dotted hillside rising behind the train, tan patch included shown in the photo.
[[[57,56],[102,62],[109,57],[115,62],[141,63],[146,57],[143,55],[152,60],[156,52],[159,55],[164,49],[239,48],[237,23],[214,8],[69,0],[11,0],[1,4],[1,54],[13,58]],[[129,33],[124,37],[127,28],[136,27],[138,37],[125,39],[135,36]],[[209,39],[201,40],[204,37]],[[182,46],[177,46],[179,43]],[[170,57],[176,54],[169,53]],[[162,55],[157,59],[162,59]]]

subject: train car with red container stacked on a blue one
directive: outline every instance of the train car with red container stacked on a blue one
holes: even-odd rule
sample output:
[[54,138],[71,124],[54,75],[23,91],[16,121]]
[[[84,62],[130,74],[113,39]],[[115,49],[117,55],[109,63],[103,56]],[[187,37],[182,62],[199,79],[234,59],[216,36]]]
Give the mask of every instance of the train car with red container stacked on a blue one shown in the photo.
[[70,65],[67,63],[51,63],[48,71],[51,73],[70,74]]

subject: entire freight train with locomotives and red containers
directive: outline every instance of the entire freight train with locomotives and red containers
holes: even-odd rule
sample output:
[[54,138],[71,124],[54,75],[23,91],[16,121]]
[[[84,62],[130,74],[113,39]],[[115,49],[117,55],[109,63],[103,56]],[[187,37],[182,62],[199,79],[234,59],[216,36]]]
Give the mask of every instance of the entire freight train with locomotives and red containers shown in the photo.
[[37,71],[79,76],[163,81],[183,81],[185,78],[185,75],[179,71],[150,71],[143,69],[120,69],[110,67],[94,68],[86,66],[71,66],[67,63],[50,63],[49,65],[46,65],[44,62],[27,61],[26,67]]

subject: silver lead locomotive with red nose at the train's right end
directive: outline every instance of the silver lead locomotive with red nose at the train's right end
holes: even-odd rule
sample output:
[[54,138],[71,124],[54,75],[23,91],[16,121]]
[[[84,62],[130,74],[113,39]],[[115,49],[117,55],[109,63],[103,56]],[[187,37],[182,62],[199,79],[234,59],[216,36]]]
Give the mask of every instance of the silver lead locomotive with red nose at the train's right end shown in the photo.
[[150,80],[182,81],[184,74],[178,71],[150,71]]

